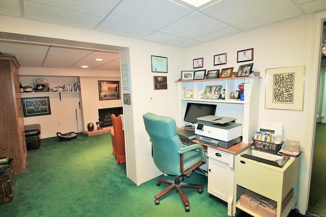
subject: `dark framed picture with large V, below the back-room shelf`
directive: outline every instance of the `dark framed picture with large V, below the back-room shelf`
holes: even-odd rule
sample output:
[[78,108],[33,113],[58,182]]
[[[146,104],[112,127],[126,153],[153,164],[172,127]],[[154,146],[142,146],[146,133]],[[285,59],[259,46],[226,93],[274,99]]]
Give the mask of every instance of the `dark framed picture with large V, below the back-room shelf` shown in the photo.
[[24,117],[51,115],[50,100],[48,96],[21,98]]

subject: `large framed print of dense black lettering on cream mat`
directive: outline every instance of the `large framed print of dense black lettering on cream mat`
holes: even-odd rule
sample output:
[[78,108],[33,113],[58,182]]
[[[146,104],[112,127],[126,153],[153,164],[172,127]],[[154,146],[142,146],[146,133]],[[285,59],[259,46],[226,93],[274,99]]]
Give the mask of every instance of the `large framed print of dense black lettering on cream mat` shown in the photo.
[[265,108],[303,110],[305,65],[266,69]]

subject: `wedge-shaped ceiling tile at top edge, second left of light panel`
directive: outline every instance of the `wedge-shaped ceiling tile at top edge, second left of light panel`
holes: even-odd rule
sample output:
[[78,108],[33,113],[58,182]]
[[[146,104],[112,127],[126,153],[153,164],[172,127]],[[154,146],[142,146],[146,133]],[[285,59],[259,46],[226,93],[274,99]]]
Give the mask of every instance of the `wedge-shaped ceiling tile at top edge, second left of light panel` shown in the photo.
[[39,3],[102,18],[105,17],[119,1],[120,0],[25,0],[25,2]]

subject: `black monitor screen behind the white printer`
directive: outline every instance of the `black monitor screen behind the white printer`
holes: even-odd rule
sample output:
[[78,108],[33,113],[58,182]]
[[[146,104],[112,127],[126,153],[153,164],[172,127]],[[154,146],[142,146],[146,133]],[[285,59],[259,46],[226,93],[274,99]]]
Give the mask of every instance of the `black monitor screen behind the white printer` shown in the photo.
[[214,104],[188,102],[183,120],[190,123],[197,123],[197,118],[207,115],[215,115],[215,110],[216,105]]

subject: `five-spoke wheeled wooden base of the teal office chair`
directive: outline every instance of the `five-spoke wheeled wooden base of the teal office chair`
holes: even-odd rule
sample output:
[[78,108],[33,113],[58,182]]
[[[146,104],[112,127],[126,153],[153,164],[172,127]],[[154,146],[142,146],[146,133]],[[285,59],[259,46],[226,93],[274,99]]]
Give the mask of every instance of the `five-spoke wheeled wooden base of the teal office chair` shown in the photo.
[[187,188],[197,188],[197,192],[199,194],[203,193],[203,188],[204,186],[201,184],[191,184],[191,183],[184,183],[184,182],[180,182],[180,176],[175,176],[174,177],[174,181],[169,180],[169,179],[162,179],[162,178],[158,178],[156,181],[156,185],[159,186],[160,183],[166,183],[169,184],[169,186],[167,188],[165,188],[163,191],[161,191],[160,193],[155,195],[155,204],[158,205],[159,204],[159,198],[166,195],[167,193],[171,192],[173,189],[176,189],[176,192],[180,194],[180,197],[185,205],[185,211],[188,212],[190,211],[190,207],[189,207],[189,200],[187,198],[187,196],[185,195],[182,187],[187,187]]

